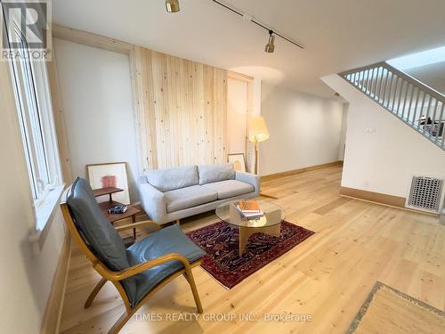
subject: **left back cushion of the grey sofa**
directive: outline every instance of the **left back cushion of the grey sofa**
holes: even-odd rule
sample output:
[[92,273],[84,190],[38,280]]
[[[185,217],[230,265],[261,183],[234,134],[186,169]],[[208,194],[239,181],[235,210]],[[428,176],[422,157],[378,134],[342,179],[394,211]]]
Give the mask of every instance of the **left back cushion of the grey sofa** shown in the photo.
[[185,188],[198,184],[198,169],[196,166],[184,166],[150,170],[147,181],[163,192]]

